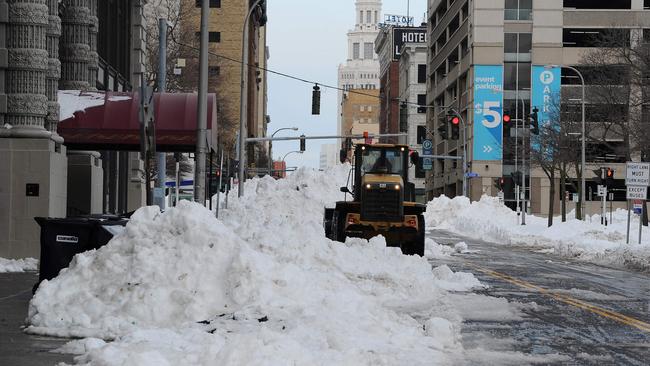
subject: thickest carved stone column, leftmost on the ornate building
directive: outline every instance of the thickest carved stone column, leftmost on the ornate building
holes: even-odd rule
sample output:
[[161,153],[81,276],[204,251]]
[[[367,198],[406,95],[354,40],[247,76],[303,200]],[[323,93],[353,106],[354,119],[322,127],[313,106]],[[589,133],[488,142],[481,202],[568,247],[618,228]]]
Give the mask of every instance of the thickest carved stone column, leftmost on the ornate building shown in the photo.
[[48,70],[46,0],[10,0],[7,27],[7,114],[12,137],[49,137],[45,129]]

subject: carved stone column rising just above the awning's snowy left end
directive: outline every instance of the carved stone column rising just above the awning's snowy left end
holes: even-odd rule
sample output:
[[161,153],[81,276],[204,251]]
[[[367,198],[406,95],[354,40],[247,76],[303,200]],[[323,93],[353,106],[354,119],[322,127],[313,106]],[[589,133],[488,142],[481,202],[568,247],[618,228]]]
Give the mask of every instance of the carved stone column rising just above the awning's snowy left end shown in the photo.
[[61,80],[59,89],[88,90],[90,64],[89,0],[63,0],[61,17]]

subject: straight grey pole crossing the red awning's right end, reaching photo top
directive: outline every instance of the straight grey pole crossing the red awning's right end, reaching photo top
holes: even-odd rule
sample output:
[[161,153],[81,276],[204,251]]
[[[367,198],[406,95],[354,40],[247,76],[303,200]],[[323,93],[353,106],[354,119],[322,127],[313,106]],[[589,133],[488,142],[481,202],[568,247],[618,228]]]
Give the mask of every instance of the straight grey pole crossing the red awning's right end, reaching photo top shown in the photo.
[[[196,113],[196,159],[194,164],[194,201],[205,206],[205,154],[208,116],[208,15],[209,0],[201,1],[201,45],[199,52],[199,101]],[[243,99],[243,96],[242,96]]]

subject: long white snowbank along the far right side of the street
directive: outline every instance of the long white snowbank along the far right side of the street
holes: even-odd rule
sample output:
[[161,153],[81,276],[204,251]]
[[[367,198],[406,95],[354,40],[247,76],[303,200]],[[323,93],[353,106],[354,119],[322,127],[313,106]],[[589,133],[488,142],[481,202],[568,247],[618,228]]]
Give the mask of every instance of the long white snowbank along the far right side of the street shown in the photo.
[[586,221],[561,222],[555,218],[549,228],[546,218],[530,215],[526,226],[521,226],[517,225],[517,214],[497,198],[484,196],[470,203],[466,197],[442,196],[428,203],[425,218],[428,228],[446,229],[474,239],[549,248],[555,254],[585,261],[650,269],[650,230],[643,229],[642,245],[638,245],[639,219],[633,215],[631,244],[626,245],[625,210],[614,212],[613,223],[608,226],[600,225],[600,216],[593,216]]

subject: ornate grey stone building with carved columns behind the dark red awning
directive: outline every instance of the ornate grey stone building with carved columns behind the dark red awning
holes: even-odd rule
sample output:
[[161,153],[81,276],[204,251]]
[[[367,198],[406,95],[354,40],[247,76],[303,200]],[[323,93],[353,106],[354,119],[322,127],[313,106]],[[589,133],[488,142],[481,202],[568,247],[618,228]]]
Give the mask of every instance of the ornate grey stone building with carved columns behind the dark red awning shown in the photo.
[[[101,212],[100,155],[67,151],[57,133],[58,91],[128,90],[140,84],[142,5],[135,0],[0,0],[0,55],[7,56],[0,56],[0,257],[39,257],[34,217],[70,214],[75,200],[69,193],[78,193],[79,182],[79,175],[70,179],[70,170],[87,172],[84,188],[94,197],[86,213]],[[69,161],[68,155],[75,156]],[[117,155],[107,160],[117,171]],[[124,155],[123,192],[140,186],[139,161],[131,160]],[[77,169],[84,164],[89,169]],[[137,172],[137,182],[129,169]],[[120,184],[116,176],[104,176],[112,177],[115,187]],[[136,197],[135,208],[142,205],[141,195],[130,197]]]

